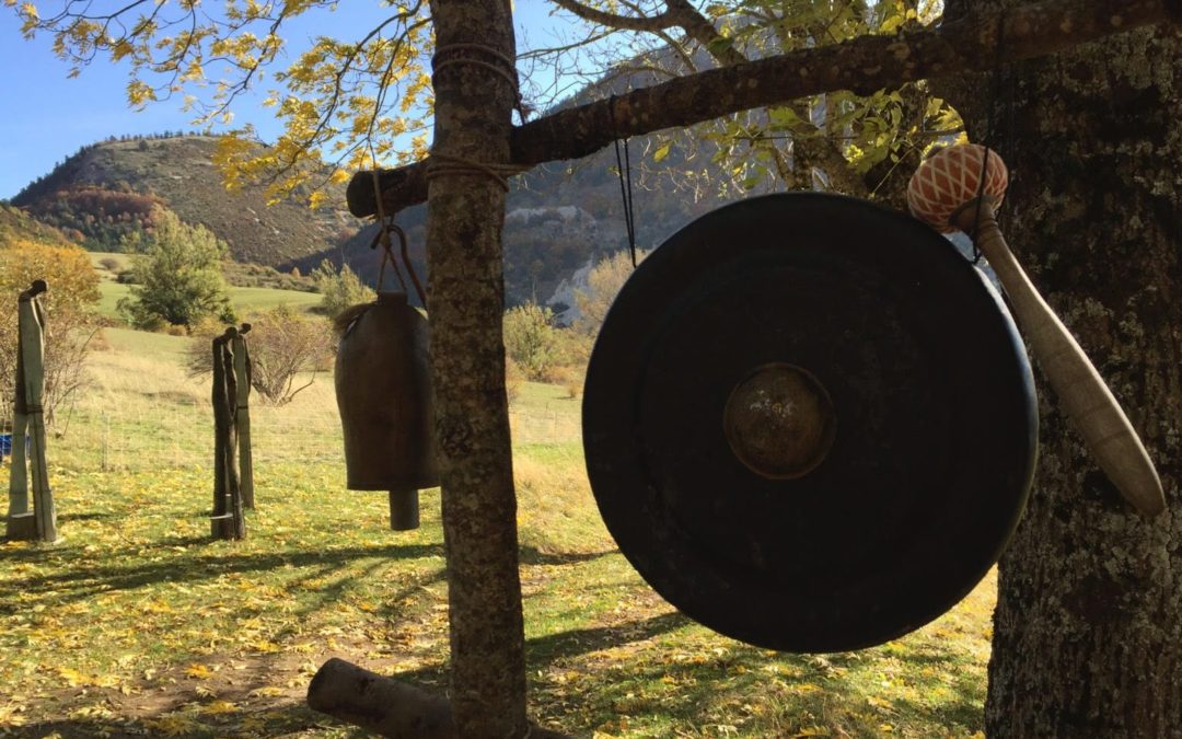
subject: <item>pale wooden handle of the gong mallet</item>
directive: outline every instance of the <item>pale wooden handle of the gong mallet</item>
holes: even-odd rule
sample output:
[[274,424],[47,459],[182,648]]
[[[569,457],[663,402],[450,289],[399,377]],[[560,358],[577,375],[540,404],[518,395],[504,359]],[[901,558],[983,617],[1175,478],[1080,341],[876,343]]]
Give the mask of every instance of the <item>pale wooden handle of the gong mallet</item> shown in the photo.
[[974,231],[974,221],[976,247],[1006,290],[1032,352],[1100,469],[1135,508],[1145,516],[1161,513],[1165,510],[1162,481],[1137,432],[1087,355],[1011,253],[988,197],[980,209],[973,201],[953,216],[953,222],[968,234]]

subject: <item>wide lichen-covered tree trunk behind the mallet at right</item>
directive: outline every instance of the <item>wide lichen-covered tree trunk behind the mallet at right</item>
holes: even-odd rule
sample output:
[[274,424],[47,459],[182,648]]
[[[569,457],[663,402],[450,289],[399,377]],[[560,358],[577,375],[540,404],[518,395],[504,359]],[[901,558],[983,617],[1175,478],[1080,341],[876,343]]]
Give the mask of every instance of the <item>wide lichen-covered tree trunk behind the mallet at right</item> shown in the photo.
[[[1001,560],[992,737],[1182,732],[1180,56],[1163,28],[1002,72],[1002,228],[1141,433],[1168,510],[1124,503],[1040,382],[1035,487]],[[978,123],[985,82],[975,102],[950,96]]]

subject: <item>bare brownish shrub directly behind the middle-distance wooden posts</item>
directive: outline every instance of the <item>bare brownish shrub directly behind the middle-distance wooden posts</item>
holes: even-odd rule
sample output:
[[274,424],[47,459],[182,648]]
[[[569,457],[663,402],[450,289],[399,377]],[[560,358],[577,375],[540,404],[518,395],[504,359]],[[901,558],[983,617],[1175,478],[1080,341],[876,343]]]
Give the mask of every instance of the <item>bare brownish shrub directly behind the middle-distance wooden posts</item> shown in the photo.
[[[266,403],[284,406],[312,384],[316,375],[330,365],[332,332],[323,318],[312,318],[290,305],[278,305],[249,318],[251,387]],[[188,349],[189,372],[213,371],[209,342],[222,332],[216,322],[207,320],[194,332]],[[297,384],[301,375],[306,382]]]

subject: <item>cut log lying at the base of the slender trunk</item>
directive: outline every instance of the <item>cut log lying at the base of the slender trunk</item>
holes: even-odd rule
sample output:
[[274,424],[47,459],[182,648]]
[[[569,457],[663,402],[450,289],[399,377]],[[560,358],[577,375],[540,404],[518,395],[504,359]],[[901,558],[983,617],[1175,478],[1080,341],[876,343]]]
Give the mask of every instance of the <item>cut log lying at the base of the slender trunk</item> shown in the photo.
[[[381,737],[457,739],[452,704],[336,657],[320,666],[307,686],[307,705]],[[530,739],[567,739],[538,726]]]

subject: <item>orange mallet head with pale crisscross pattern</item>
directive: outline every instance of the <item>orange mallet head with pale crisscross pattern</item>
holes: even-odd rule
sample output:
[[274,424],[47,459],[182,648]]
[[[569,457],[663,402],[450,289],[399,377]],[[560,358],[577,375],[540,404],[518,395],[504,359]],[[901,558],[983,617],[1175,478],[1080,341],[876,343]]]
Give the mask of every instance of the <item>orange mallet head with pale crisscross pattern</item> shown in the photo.
[[[956,144],[924,160],[907,186],[907,205],[911,215],[942,233],[959,231],[953,226],[952,216],[981,192],[985,153],[986,148],[980,144]],[[989,150],[986,167],[985,194],[993,197],[996,207],[1006,194],[1009,174],[1006,163],[993,150]]]

